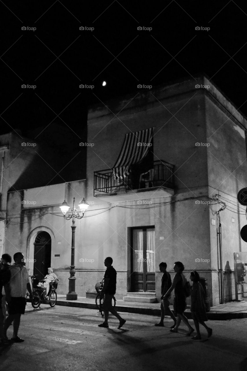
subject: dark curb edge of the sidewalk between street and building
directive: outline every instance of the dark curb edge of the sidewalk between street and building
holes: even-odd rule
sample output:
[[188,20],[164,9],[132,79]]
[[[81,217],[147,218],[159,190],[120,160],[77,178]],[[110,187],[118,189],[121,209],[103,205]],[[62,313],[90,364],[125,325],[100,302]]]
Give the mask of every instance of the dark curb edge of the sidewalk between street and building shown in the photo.
[[[71,302],[65,300],[57,300],[56,305],[69,306],[75,308],[86,308],[86,309],[98,309],[96,304],[93,303],[82,303],[82,302]],[[115,306],[117,312],[126,312],[126,313],[136,313],[136,314],[145,314],[151,316],[160,316],[160,309],[152,308],[138,308],[138,307],[128,307],[128,306]],[[192,319],[191,312],[185,311],[185,315],[188,319]],[[232,312],[232,313],[215,313],[207,312],[207,317],[212,321],[227,321],[230,319],[242,319],[247,318],[247,312]]]

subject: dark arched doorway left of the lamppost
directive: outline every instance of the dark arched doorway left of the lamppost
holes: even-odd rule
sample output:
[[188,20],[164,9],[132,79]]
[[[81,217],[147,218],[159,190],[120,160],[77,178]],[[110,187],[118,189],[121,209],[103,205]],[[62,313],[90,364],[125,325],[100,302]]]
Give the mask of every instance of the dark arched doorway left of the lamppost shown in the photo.
[[39,232],[34,241],[33,274],[42,279],[47,274],[51,263],[51,237],[47,232]]

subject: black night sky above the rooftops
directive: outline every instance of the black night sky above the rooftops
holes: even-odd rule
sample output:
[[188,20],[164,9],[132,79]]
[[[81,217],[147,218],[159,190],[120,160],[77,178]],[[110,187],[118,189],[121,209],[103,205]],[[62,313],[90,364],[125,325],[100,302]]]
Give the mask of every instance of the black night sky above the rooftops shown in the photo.
[[19,128],[38,140],[56,124],[82,137],[90,104],[198,72],[247,115],[244,1],[4,0],[0,8],[1,134]]

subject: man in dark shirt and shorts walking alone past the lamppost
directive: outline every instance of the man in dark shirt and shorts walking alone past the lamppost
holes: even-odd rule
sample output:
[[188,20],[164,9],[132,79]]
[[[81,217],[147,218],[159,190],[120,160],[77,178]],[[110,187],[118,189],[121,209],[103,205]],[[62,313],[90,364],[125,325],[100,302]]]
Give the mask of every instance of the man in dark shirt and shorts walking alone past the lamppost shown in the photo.
[[110,256],[105,258],[104,264],[106,267],[105,275],[104,275],[104,286],[100,294],[100,298],[104,299],[104,311],[105,311],[105,321],[98,325],[99,327],[109,327],[108,325],[108,317],[109,312],[113,314],[119,320],[118,328],[121,328],[126,320],[119,316],[118,312],[112,306],[112,298],[116,293],[116,270],[112,266],[112,258]]

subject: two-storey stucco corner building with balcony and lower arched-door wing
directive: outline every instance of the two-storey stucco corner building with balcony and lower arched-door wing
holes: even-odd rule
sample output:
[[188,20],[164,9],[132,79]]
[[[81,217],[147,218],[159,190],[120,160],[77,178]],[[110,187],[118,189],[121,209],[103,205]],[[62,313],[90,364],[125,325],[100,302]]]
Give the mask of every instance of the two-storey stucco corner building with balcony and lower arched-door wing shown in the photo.
[[67,293],[71,221],[59,206],[85,197],[90,207],[76,220],[79,296],[93,290],[112,256],[117,299],[159,299],[159,263],[172,273],[177,260],[185,275],[197,270],[207,279],[211,304],[235,299],[234,253],[247,252],[237,202],[247,180],[246,129],[246,118],[203,76],[91,107],[86,178],[10,189],[4,251],[21,250],[30,273],[49,262],[58,293]]

